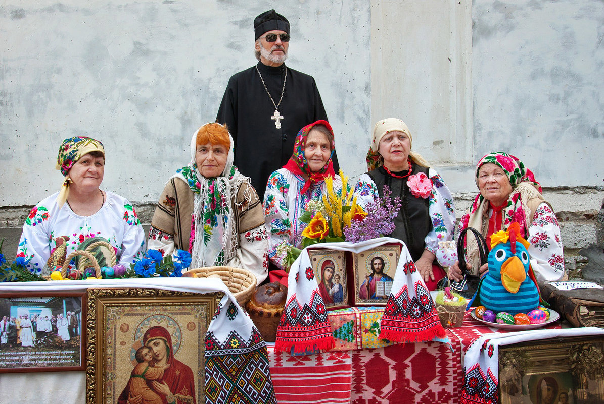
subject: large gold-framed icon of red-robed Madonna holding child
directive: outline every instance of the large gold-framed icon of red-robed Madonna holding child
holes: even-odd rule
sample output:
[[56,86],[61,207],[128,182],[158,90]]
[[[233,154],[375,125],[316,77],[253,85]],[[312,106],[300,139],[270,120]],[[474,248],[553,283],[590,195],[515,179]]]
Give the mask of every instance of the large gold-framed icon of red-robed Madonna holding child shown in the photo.
[[205,333],[220,297],[89,289],[86,403],[204,403]]

